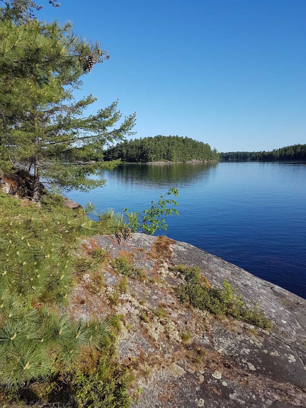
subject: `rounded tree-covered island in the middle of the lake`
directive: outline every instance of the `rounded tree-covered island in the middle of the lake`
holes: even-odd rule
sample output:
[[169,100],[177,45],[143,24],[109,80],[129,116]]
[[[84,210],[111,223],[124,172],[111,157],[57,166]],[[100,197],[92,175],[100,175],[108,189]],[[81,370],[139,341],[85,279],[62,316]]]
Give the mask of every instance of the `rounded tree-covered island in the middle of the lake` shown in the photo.
[[104,151],[104,160],[122,162],[189,162],[191,160],[218,160],[216,149],[190,137],[161,136],[125,140]]

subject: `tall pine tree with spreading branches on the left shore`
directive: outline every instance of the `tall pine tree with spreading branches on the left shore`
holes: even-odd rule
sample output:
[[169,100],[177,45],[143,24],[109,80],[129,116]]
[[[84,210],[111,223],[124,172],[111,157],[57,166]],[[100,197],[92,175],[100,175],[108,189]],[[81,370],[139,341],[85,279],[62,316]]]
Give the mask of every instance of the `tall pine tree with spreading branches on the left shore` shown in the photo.
[[[27,2],[27,0],[24,0]],[[18,22],[16,22],[18,20]],[[135,113],[120,120],[118,101],[86,116],[95,102],[92,95],[75,101],[73,89],[93,64],[108,59],[98,41],[76,36],[71,24],[44,23],[29,17],[13,18],[2,10],[0,18],[0,165],[33,173],[32,196],[40,198],[40,178],[58,187],[92,188],[96,165],[65,165],[73,154],[82,160],[106,142],[131,134]],[[110,130],[111,129],[111,130]],[[77,149],[82,147],[82,149]],[[112,168],[117,162],[105,165]]]

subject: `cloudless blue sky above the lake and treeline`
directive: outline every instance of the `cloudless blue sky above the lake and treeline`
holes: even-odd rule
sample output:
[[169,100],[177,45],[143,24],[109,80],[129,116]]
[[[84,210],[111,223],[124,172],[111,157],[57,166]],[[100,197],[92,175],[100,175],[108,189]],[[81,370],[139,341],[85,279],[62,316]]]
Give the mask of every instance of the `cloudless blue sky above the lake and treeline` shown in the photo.
[[98,97],[95,109],[118,98],[123,115],[136,111],[134,137],[188,136],[218,151],[306,143],[305,0],[43,4],[39,19],[71,20],[109,51],[81,94]]

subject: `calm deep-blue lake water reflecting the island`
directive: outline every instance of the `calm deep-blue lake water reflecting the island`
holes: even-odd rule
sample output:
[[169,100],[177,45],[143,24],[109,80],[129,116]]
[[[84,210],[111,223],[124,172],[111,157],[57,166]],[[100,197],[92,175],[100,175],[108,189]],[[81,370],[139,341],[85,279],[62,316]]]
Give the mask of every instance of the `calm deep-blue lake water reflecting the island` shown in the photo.
[[97,177],[103,188],[67,195],[99,210],[141,212],[175,187],[180,217],[167,217],[160,235],[306,298],[306,163],[130,164]]

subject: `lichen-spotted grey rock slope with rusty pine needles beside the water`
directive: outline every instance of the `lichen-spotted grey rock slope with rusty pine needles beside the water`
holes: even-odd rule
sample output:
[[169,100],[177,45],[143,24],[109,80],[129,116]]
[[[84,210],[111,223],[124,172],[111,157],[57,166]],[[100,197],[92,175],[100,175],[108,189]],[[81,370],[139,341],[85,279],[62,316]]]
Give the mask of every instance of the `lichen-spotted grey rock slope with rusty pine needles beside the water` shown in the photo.
[[[120,315],[118,355],[135,370],[129,390],[135,406],[306,406],[304,299],[184,242],[168,239],[160,251],[156,237],[135,233],[120,246],[113,236],[96,237],[96,244],[111,257],[131,259],[147,275],[143,282],[127,278],[125,291],[122,275],[108,264],[104,284],[98,288],[94,276],[84,275],[69,306],[77,318]],[[273,329],[180,303],[174,291],[184,283],[173,269],[178,264],[199,266],[211,286],[222,288],[226,278],[246,302],[260,302]]]

